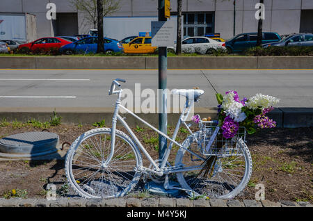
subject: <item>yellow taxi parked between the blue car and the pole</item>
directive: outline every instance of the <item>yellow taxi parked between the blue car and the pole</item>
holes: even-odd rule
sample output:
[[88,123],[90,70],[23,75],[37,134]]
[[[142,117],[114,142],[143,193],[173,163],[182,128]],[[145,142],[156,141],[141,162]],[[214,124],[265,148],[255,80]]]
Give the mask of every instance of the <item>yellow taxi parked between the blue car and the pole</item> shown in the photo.
[[123,44],[124,53],[126,54],[151,54],[157,47],[151,46],[151,37],[138,37],[134,38],[128,44]]

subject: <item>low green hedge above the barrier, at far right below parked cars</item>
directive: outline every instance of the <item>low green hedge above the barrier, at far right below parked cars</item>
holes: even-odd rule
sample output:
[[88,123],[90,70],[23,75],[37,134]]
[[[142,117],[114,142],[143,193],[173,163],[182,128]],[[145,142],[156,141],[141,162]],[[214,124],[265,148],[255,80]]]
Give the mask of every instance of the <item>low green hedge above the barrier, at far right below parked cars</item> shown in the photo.
[[313,46],[310,47],[252,47],[243,52],[246,56],[313,56]]

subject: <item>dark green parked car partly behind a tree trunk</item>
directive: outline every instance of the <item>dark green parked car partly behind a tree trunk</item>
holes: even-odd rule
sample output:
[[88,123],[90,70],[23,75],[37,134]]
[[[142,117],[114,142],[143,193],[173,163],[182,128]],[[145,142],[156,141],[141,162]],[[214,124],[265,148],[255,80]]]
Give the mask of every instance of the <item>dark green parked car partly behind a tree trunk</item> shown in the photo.
[[[278,33],[263,32],[262,44],[270,42],[279,42],[281,40]],[[251,47],[257,46],[257,33],[242,33],[236,35],[226,42],[226,48],[229,53],[239,53]]]

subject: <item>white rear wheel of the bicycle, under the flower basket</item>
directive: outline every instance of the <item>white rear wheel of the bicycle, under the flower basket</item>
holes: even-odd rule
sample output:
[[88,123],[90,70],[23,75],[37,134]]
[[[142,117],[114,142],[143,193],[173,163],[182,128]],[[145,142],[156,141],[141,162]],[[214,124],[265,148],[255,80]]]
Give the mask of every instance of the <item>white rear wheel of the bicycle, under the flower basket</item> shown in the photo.
[[[175,158],[175,166],[188,168],[186,172],[177,173],[177,180],[191,197],[211,197],[232,199],[246,187],[251,177],[252,158],[243,140],[236,142],[236,153],[220,155],[202,155],[199,148],[200,132],[194,133],[184,141],[184,147],[198,154],[191,156],[186,149],[180,148]],[[214,159],[214,167],[206,174],[207,159]],[[212,165],[212,164],[211,164]],[[191,170],[194,168],[194,170]]]

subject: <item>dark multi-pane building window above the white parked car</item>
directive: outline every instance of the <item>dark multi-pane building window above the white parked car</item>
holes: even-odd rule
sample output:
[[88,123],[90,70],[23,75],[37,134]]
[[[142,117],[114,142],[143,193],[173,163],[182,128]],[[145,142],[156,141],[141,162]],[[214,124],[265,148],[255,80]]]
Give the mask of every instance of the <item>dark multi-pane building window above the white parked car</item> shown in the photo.
[[204,36],[214,33],[214,13],[183,13],[184,36]]

